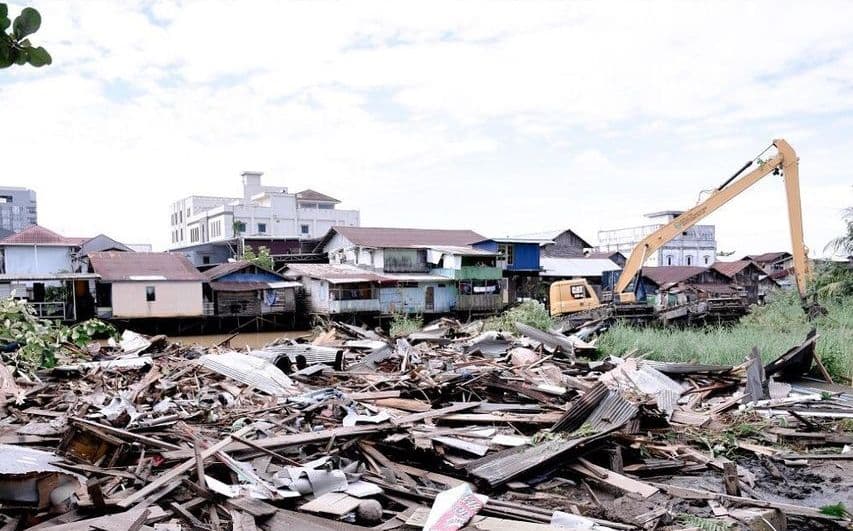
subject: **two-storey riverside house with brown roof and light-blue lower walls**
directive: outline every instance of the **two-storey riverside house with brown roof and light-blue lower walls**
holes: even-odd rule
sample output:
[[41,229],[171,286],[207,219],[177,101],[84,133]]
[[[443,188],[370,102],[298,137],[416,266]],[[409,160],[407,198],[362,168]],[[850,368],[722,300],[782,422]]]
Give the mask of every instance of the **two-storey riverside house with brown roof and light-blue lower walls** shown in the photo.
[[[504,306],[498,253],[470,230],[334,227],[328,264],[290,264],[320,314],[492,312]],[[491,240],[488,242],[494,243]]]

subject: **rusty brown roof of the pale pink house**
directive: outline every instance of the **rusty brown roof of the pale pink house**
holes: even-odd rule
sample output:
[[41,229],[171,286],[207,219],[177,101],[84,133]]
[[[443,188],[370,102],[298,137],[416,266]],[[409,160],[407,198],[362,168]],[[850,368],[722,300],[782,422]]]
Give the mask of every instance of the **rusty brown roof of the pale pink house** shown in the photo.
[[182,254],[172,253],[91,253],[89,263],[106,282],[141,280],[204,281],[207,278]]

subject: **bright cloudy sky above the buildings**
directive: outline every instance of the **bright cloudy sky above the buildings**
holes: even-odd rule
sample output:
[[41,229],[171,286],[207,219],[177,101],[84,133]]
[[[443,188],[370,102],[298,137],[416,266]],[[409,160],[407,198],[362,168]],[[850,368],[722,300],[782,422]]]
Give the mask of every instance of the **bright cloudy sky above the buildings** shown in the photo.
[[[0,70],[0,184],[67,236],[169,240],[169,204],[240,172],[364,226],[591,243],[687,209],[774,138],[813,256],[853,205],[850,2],[28,0],[53,64]],[[790,250],[768,176],[707,218]]]

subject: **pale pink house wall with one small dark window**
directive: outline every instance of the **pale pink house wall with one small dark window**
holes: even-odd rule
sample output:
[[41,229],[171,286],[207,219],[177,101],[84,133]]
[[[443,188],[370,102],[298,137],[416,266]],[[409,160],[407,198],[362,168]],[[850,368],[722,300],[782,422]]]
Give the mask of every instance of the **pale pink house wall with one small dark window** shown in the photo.
[[[148,286],[155,288],[153,302],[145,298]],[[119,319],[200,316],[203,313],[201,282],[113,282],[112,308],[113,317]]]

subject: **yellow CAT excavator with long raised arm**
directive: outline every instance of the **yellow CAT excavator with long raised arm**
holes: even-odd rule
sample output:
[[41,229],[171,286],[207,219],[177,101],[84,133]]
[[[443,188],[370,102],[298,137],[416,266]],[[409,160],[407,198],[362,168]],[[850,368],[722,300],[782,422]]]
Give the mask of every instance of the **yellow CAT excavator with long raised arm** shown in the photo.
[[[769,159],[763,160],[761,157],[773,147],[776,148],[776,154]],[[743,175],[752,166],[757,167],[746,175]],[[808,250],[803,242],[803,215],[800,205],[798,166],[797,154],[790,144],[782,139],[774,140],[771,146],[768,146],[756,158],[744,164],[737,173],[714,189],[699,204],[643,238],[634,247],[627,262],[625,262],[625,267],[622,268],[622,273],[613,286],[612,294],[609,297],[611,301],[609,303],[600,300],[595,290],[586,280],[563,280],[551,284],[551,315],[555,317],[569,316],[573,318],[573,321],[576,320],[575,318],[585,319],[604,316],[634,317],[636,320],[643,320],[644,317],[654,317],[654,308],[647,304],[639,303],[636,297],[636,286],[639,284],[638,277],[642,274],[643,264],[646,259],[652,253],[666,245],[667,242],[683,234],[687,229],[771,173],[774,175],[781,174],[785,180],[785,191],[788,199],[788,224],[791,231],[794,276],[796,278],[797,290],[803,301],[804,309],[808,311],[809,308],[813,308],[814,306],[806,304],[806,282],[811,273],[807,259]],[[634,282],[635,289],[627,290],[635,279],[637,280]]]

